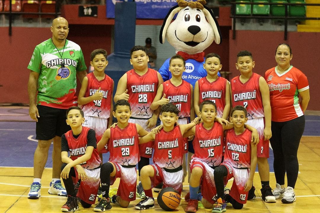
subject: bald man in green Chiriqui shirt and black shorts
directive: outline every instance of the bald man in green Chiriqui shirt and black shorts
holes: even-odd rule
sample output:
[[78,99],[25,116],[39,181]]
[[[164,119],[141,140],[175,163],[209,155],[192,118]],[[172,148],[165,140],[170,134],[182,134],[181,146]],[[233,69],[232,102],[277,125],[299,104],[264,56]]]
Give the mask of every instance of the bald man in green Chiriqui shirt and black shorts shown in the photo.
[[36,121],[38,140],[29,199],[38,199],[41,195],[41,177],[52,141],[52,182],[48,193],[67,196],[60,180],[61,135],[70,130],[66,124],[66,110],[77,105],[76,76],[82,82],[87,74],[80,46],[66,39],[68,21],[56,18],[50,29],[52,38],[36,46],[28,65],[29,115]]

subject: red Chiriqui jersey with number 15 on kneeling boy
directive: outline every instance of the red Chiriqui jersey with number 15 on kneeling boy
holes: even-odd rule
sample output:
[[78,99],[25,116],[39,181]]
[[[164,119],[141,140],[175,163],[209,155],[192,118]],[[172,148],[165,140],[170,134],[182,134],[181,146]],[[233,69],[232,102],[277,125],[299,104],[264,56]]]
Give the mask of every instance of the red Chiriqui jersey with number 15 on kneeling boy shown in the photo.
[[218,122],[214,122],[212,128],[207,130],[203,123],[196,125],[195,138],[192,141],[195,154],[192,158],[197,158],[209,166],[219,166],[223,153],[223,127]]

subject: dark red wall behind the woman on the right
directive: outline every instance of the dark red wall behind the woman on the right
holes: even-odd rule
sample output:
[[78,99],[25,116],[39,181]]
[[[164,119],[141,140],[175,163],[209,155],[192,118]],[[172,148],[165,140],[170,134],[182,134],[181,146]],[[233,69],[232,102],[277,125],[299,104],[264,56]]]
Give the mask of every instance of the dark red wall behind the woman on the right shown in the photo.
[[229,32],[229,70],[230,79],[239,75],[236,70],[236,55],[241,50],[252,52],[256,62],[253,72],[264,76],[264,73],[276,66],[276,47],[280,43],[288,43],[292,49],[291,64],[300,69],[308,78],[310,87],[310,102],[308,110],[320,110],[320,33],[288,32],[288,39],[284,40],[284,32],[273,31],[236,31],[236,39],[232,39]]

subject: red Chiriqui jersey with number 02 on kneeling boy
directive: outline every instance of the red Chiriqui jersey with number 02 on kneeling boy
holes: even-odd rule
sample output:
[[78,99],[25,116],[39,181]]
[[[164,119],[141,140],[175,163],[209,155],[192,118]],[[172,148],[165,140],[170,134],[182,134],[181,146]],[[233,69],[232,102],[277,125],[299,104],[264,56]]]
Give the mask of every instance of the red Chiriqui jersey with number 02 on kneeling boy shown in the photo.
[[245,129],[236,135],[234,129],[226,134],[226,149],[223,162],[230,163],[235,168],[250,168],[251,164],[251,133]]

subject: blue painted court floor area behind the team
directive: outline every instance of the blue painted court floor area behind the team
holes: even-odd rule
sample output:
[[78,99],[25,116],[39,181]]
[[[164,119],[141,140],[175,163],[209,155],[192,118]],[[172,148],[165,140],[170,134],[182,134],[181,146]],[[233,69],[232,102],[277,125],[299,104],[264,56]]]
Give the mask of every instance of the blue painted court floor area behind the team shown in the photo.
[[[36,122],[0,122],[0,166],[33,167],[33,154],[37,146]],[[320,136],[320,116],[306,116],[304,136]],[[45,167],[52,167],[52,146]],[[109,154],[103,155],[104,162]],[[150,161],[150,163],[152,163]],[[273,152],[270,149],[270,172],[273,172]]]

